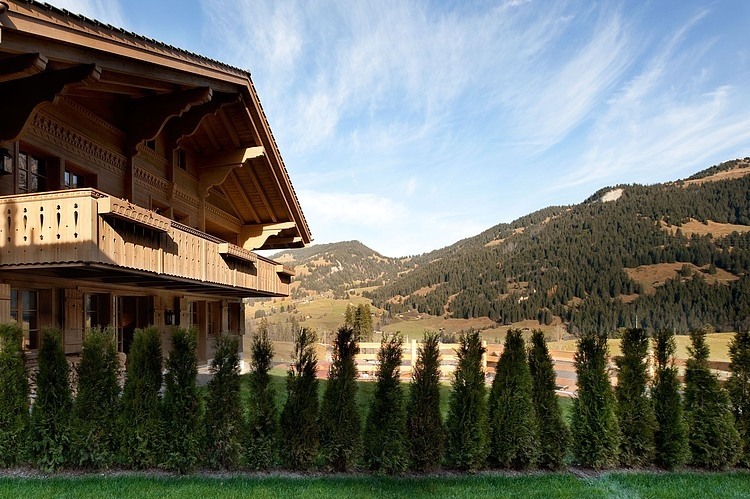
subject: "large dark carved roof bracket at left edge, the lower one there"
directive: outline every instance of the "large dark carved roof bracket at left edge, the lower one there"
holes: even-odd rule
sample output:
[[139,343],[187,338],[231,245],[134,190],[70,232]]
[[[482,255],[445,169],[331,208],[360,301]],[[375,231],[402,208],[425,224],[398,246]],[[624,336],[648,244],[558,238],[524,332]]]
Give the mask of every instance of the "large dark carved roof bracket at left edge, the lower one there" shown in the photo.
[[101,69],[94,64],[73,66],[0,83],[3,96],[3,119],[0,140],[15,140],[40,104],[53,102],[67,86],[99,80]]

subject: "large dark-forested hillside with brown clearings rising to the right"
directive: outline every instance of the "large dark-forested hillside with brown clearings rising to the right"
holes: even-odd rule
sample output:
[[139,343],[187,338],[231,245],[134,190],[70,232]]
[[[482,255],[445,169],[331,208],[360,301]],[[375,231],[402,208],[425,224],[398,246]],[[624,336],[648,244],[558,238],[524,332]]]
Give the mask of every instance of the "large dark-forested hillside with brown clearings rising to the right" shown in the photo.
[[732,329],[750,321],[748,173],[745,158],[686,181],[602,189],[412,259],[366,296],[391,313],[556,316],[573,331]]

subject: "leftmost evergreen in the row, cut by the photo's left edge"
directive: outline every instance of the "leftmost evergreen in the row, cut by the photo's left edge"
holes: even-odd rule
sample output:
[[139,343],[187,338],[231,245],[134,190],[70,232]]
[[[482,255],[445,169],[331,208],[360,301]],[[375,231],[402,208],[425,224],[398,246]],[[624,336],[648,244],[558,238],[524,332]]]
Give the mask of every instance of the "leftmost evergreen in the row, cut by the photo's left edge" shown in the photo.
[[29,373],[18,324],[0,324],[0,467],[24,458],[29,425]]

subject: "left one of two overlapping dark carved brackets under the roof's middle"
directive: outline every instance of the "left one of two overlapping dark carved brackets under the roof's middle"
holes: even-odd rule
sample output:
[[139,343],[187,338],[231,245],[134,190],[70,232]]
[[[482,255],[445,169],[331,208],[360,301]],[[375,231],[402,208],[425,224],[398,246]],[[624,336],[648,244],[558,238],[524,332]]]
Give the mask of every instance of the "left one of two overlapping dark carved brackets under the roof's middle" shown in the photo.
[[123,126],[128,135],[129,154],[135,156],[138,144],[159,135],[170,118],[182,116],[193,106],[209,102],[211,97],[209,87],[199,87],[133,100],[128,105]]

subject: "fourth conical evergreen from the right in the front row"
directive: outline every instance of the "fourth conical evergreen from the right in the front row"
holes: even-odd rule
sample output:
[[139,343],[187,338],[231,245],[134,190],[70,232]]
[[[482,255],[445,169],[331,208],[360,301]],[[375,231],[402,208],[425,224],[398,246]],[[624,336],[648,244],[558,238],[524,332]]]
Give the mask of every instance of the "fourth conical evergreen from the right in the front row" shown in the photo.
[[648,397],[648,333],[626,329],[616,359],[619,370],[615,397],[620,423],[620,463],[646,466],[654,460],[656,418]]

